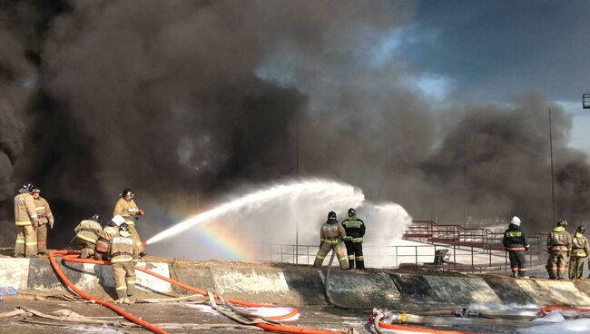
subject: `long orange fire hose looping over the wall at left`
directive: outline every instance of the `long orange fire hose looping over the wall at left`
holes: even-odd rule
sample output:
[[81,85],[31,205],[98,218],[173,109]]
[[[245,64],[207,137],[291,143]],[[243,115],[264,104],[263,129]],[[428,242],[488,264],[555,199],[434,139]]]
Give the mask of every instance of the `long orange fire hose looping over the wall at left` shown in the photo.
[[[133,323],[142,326],[144,329],[148,329],[148,330],[152,331],[153,333],[167,334],[167,332],[165,330],[160,329],[160,328],[152,325],[151,323],[144,321],[143,319],[139,319],[139,318],[133,316],[133,314],[114,305],[113,303],[106,301],[106,300],[100,300],[97,298],[93,298],[93,296],[90,296],[90,295],[84,293],[84,291],[77,289],[74,286],[74,283],[72,283],[72,281],[69,280],[65,276],[64,271],[57,264],[57,261],[55,260],[55,255],[64,255],[64,261],[93,263],[93,264],[99,264],[99,265],[108,265],[108,264],[110,264],[110,261],[108,261],[108,260],[80,259],[80,251],[51,251],[49,253],[49,261],[51,262],[51,265],[54,268],[55,273],[57,273],[57,276],[64,282],[65,285],[67,285],[71,290],[73,290],[80,297],[84,298],[85,300],[93,300],[97,304],[101,304],[108,309],[112,309],[117,314],[123,316],[123,318],[128,319],[128,320],[132,321]],[[161,280],[165,280],[165,281],[167,281],[173,285],[176,285],[178,287],[181,287],[185,290],[191,290],[191,291],[197,292],[199,294],[202,294],[203,296],[208,296],[208,292],[206,290],[200,290],[200,289],[194,288],[190,285],[184,284],[180,281],[169,279],[167,277],[164,277],[162,275],[159,275],[159,274],[153,272],[152,270],[146,270],[146,269],[144,269],[142,267],[138,267],[138,266],[134,266],[134,268],[136,270],[143,271],[143,272],[145,272],[149,275],[152,275],[156,278],[159,278]],[[218,296],[216,294],[214,294],[213,297],[218,300],[220,299],[220,296]],[[245,306],[245,307],[279,308],[279,306],[269,305],[269,304],[257,304],[257,303],[251,303],[251,302],[234,300],[234,299],[225,299],[225,300],[229,301],[231,303],[234,303],[234,304]],[[268,319],[273,320],[273,321],[281,320],[281,319],[289,319],[289,318],[297,315],[298,313],[299,313],[299,310],[293,308],[290,311],[290,313],[288,313],[288,314],[285,314],[282,316],[276,316],[276,317],[268,317]],[[288,326],[282,326],[282,325],[275,325],[275,324],[270,324],[270,323],[257,323],[257,324],[255,324],[255,326],[260,327],[261,329],[266,329],[266,330],[270,330],[270,331],[277,331],[277,332],[281,332],[281,333],[302,333],[302,334],[335,334],[335,333],[339,333],[339,331],[335,331],[335,330],[305,329],[305,328],[299,328],[299,327],[288,327]]]

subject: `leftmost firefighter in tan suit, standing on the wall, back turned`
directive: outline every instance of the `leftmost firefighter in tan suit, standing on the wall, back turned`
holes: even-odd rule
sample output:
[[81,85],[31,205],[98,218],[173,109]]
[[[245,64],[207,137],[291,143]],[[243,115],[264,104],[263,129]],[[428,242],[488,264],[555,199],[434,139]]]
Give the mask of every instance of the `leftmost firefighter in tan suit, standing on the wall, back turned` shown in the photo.
[[39,219],[31,194],[33,190],[34,184],[25,182],[15,196],[16,242],[13,255],[15,258],[34,258],[37,255],[37,233],[34,231],[34,226]]

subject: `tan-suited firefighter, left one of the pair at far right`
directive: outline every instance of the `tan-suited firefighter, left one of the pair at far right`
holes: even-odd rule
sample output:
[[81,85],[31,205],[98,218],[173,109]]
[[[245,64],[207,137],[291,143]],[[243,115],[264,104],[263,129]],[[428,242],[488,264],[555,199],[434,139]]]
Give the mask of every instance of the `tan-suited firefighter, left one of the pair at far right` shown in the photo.
[[567,221],[559,220],[556,225],[556,228],[547,236],[549,259],[546,270],[551,280],[563,280],[565,279],[567,258],[572,251],[572,237],[565,231]]

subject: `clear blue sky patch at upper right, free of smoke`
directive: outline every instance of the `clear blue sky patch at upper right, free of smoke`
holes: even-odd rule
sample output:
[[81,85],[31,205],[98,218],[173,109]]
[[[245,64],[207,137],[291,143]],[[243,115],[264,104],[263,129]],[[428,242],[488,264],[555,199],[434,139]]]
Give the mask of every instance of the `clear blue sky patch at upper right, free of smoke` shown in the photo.
[[589,10],[587,1],[422,1],[386,44],[438,98],[504,103],[544,93],[574,116],[570,143],[588,153]]

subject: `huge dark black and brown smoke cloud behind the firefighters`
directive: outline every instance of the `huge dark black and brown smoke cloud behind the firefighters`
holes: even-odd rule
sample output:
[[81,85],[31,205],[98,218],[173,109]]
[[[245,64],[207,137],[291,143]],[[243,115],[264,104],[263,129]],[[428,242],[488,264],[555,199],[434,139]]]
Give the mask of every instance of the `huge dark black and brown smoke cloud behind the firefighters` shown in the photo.
[[418,220],[516,214],[540,231],[553,219],[548,107],[556,214],[582,222],[590,170],[566,147],[563,108],[540,93],[438,101],[417,68],[375,59],[415,15],[386,1],[0,2],[1,226],[25,181],[53,204],[58,247],[126,187],[157,203],[145,221],[160,225],[299,172]]

